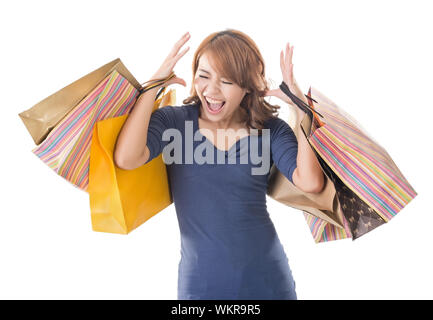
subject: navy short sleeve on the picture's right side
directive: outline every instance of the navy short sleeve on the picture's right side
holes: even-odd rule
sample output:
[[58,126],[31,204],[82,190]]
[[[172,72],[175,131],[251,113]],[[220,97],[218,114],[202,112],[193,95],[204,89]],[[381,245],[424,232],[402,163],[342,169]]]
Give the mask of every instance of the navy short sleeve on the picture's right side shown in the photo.
[[293,172],[297,167],[298,140],[292,128],[284,120],[276,117],[269,123],[272,160],[277,169],[293,183]]

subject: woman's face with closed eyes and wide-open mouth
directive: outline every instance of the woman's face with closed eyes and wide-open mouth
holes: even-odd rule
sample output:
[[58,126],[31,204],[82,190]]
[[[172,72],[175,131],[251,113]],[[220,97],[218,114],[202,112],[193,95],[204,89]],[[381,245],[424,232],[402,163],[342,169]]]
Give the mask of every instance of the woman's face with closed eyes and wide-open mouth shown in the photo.
[[247,90],[230,79],[222,78],[212,69],[209,59],[206,53],[200,57],[194,77],[194,87],[202,103],[202,112],[212,121],[231,119]]

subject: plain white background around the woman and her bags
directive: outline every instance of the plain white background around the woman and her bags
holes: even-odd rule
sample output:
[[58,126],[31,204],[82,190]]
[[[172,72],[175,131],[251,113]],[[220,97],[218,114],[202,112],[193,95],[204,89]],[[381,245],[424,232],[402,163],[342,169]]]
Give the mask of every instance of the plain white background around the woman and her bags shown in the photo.
[[[175,67],[211,32],[239,29],[279,84],[290,42],[304,91],[314,86],[386,148],[418,196],[352,242],[315,244],[301,212],[268,198],[299,299],[431,299],[431,1],[1,2],[0,298],[176,299],[180,235],[174,206],[129,235],[93,232],[88,195],[32,152],[18,117],[120,57],[141,82],[189,31]],[[430,30],[430,31],[429,31]],[[271,103],[280,103],[276,98]],[[281,102],[284,108],[285,105]],[[281,116],[284,118],[284,112]],[[287,120],[287,119],[286,119]]]

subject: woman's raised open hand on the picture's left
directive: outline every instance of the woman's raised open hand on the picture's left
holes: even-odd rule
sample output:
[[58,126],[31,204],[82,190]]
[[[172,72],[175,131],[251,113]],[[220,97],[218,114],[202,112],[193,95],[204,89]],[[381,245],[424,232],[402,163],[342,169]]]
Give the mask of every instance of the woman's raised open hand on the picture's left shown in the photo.
[[[171,72],[173,71],[174,66],[179,61],[180,58],[182,58],[185,53],[189,50],[189,47],[186,47],[181,52],[179,50],[182,48],[182,46],[189,40],[190,38],[189,32],[185,33],[182,38],[180,38],[174,45],[173,49],[170,51],[167,58],[162,63],[161,67],[158,69],[158,71],[155,72],[152,79],[164,79],[167,78]],[[171,84],[180,84],[186,87],[185,80],[178,78],[177,76],[170,79],[169,81],[164,83],[164,86],[169,86]]]

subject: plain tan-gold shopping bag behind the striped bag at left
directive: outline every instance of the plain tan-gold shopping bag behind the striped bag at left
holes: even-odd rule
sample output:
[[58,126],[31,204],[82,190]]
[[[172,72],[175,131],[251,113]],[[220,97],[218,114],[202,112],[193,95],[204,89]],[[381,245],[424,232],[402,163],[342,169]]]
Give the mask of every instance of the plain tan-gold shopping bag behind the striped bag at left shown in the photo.
[[114,70],[137,90],[141,88],[122,61],[115,59],[21,112],[19,116],[35,144],[40,144],[60,120]]

